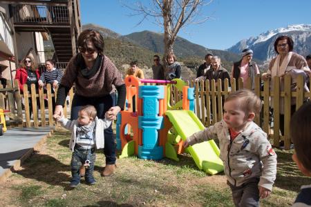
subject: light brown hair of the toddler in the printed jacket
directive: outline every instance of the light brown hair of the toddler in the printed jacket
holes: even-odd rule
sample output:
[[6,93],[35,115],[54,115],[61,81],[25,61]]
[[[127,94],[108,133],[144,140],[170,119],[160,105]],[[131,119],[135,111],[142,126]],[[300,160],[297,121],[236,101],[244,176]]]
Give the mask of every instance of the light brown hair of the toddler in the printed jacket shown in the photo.
[[241,101],[241,110],[244,112],[254,112],[257,116],[260,114],[263,104],[261,103],[261,99],[251,90],[241,89],[230,92],[225,102],[236,99],[243,99]]

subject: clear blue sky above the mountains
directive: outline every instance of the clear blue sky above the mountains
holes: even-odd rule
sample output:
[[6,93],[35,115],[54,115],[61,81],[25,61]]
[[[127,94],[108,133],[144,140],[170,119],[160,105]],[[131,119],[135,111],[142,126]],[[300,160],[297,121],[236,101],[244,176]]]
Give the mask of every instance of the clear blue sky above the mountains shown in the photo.
[[[142,16],[131,16],[133,11],[120,0],[80,0],[80,8],[82,24],[95,23],[122,35],[143,30],[163,32],[152,18],[137,26]],[[202,12],[211,19],[183,28],[178,36],[219,50],[267,30],[311,24],[311,0],[214,0]]]

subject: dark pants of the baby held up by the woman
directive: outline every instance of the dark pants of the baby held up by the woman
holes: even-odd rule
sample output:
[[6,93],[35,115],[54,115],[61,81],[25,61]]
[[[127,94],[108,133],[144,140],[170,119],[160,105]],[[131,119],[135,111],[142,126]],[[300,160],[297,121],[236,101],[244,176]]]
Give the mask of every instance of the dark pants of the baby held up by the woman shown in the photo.
[[85,170],[85,177],[93,177],[94,164],[96,159],[95,148],[84,149],[75,145],[75,150],[71,158],[71,174],[73,179],[80,177],[79,169],[81,165],[84,165],[86,160],[90,161],[90,166]]

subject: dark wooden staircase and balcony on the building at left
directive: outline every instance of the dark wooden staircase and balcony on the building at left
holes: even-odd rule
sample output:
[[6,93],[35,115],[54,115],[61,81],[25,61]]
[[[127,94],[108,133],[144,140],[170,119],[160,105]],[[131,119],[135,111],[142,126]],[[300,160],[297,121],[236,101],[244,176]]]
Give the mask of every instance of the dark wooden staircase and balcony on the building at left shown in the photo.
[[10,16],[15,32],[48,32],[57,62],[68,62],[76,54],[79,0],[18,1],[10,5]]

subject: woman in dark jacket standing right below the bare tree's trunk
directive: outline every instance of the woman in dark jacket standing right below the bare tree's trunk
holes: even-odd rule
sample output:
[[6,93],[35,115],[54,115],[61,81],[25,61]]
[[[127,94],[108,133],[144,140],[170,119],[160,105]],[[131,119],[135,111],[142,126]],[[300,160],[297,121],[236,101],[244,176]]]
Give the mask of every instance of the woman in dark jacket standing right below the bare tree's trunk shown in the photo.
[[173,52],[169,52],[166,58],[167,69],[165,72],[165,79],[171,81],[172,79],[181,79],[181,66],[178,63],[176,56]]

